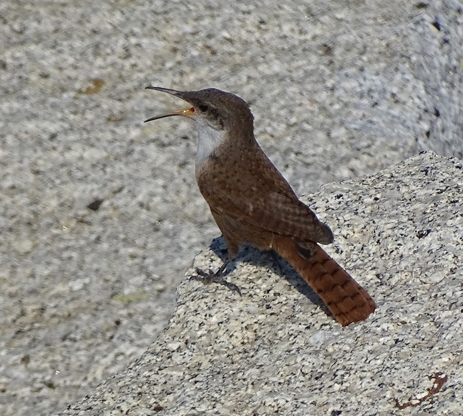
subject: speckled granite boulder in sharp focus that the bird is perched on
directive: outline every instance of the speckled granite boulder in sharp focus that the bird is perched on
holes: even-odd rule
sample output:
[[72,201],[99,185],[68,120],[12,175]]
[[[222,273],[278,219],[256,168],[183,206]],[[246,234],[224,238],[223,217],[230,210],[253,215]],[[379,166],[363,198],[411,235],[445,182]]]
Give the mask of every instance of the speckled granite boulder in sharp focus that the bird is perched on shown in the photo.
[[241,298],[185,278],[148,352],[64,415],[461,415],[462,173],[428,152],[306,198],[377,302],[366,321],[341,328],[294,271],[243,250]]

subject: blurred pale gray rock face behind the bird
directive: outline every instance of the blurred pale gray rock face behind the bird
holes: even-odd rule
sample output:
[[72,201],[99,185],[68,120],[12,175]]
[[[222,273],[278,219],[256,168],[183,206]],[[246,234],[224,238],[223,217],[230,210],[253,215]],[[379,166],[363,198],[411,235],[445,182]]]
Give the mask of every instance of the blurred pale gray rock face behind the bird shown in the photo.
[[1,1],[0,39],[0,415],[140,357],[218,235],[191,126],[143,125],[178,105],[145,86],[245,98],[298,194],[462,155],[461,1]]

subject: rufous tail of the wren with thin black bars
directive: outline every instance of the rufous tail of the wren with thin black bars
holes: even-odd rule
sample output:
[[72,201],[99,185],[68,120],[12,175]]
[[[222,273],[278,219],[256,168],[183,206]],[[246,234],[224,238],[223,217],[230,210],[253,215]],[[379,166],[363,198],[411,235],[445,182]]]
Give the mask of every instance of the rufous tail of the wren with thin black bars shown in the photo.
[[310,243],[307,259],[290,237],[274,243],[273,249],[309,283],[342,326],[363,321],[375,310],[375,302],[366,290],[317,244]]

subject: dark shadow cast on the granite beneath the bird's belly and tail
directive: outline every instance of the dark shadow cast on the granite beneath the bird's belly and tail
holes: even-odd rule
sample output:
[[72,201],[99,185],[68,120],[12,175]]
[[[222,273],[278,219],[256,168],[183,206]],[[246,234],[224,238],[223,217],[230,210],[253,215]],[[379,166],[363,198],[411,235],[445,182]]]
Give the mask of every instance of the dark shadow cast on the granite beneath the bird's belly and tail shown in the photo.
[[[209,246],[223,262],[228,260],[227,245],[223,237],[214,238]],[[320,306],[327,314],[331,315],[324,302],[313,291],[309,284],[301,277],[301,275],[291,266],[285,259],[275,253],[273,250],[261,251],[250,246],[242,246],[235,259],[230,262],[227,267],[227,272],[232,273],[236,269],[237,263],[250,263],[255,266],[267,267],[278,276],[286,279],[292,284],[301,294],[306,296],[310,302]]]

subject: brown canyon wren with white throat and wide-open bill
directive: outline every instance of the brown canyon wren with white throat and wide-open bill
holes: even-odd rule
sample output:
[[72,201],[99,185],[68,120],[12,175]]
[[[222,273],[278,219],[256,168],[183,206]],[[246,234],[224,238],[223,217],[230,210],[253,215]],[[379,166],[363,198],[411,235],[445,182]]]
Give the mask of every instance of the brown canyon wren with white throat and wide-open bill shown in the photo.
[[333,233],[299,200],[257,143],[247,103],[215,88],[147,88],[189,104],[146,122],[183,116],[196,126],[196,181],[228,247],[228,262],[216,275],[224,274],[243,244],[274,250],[309,283],[342,326],[366,319],[375,302],[319,246],[332,243]]

